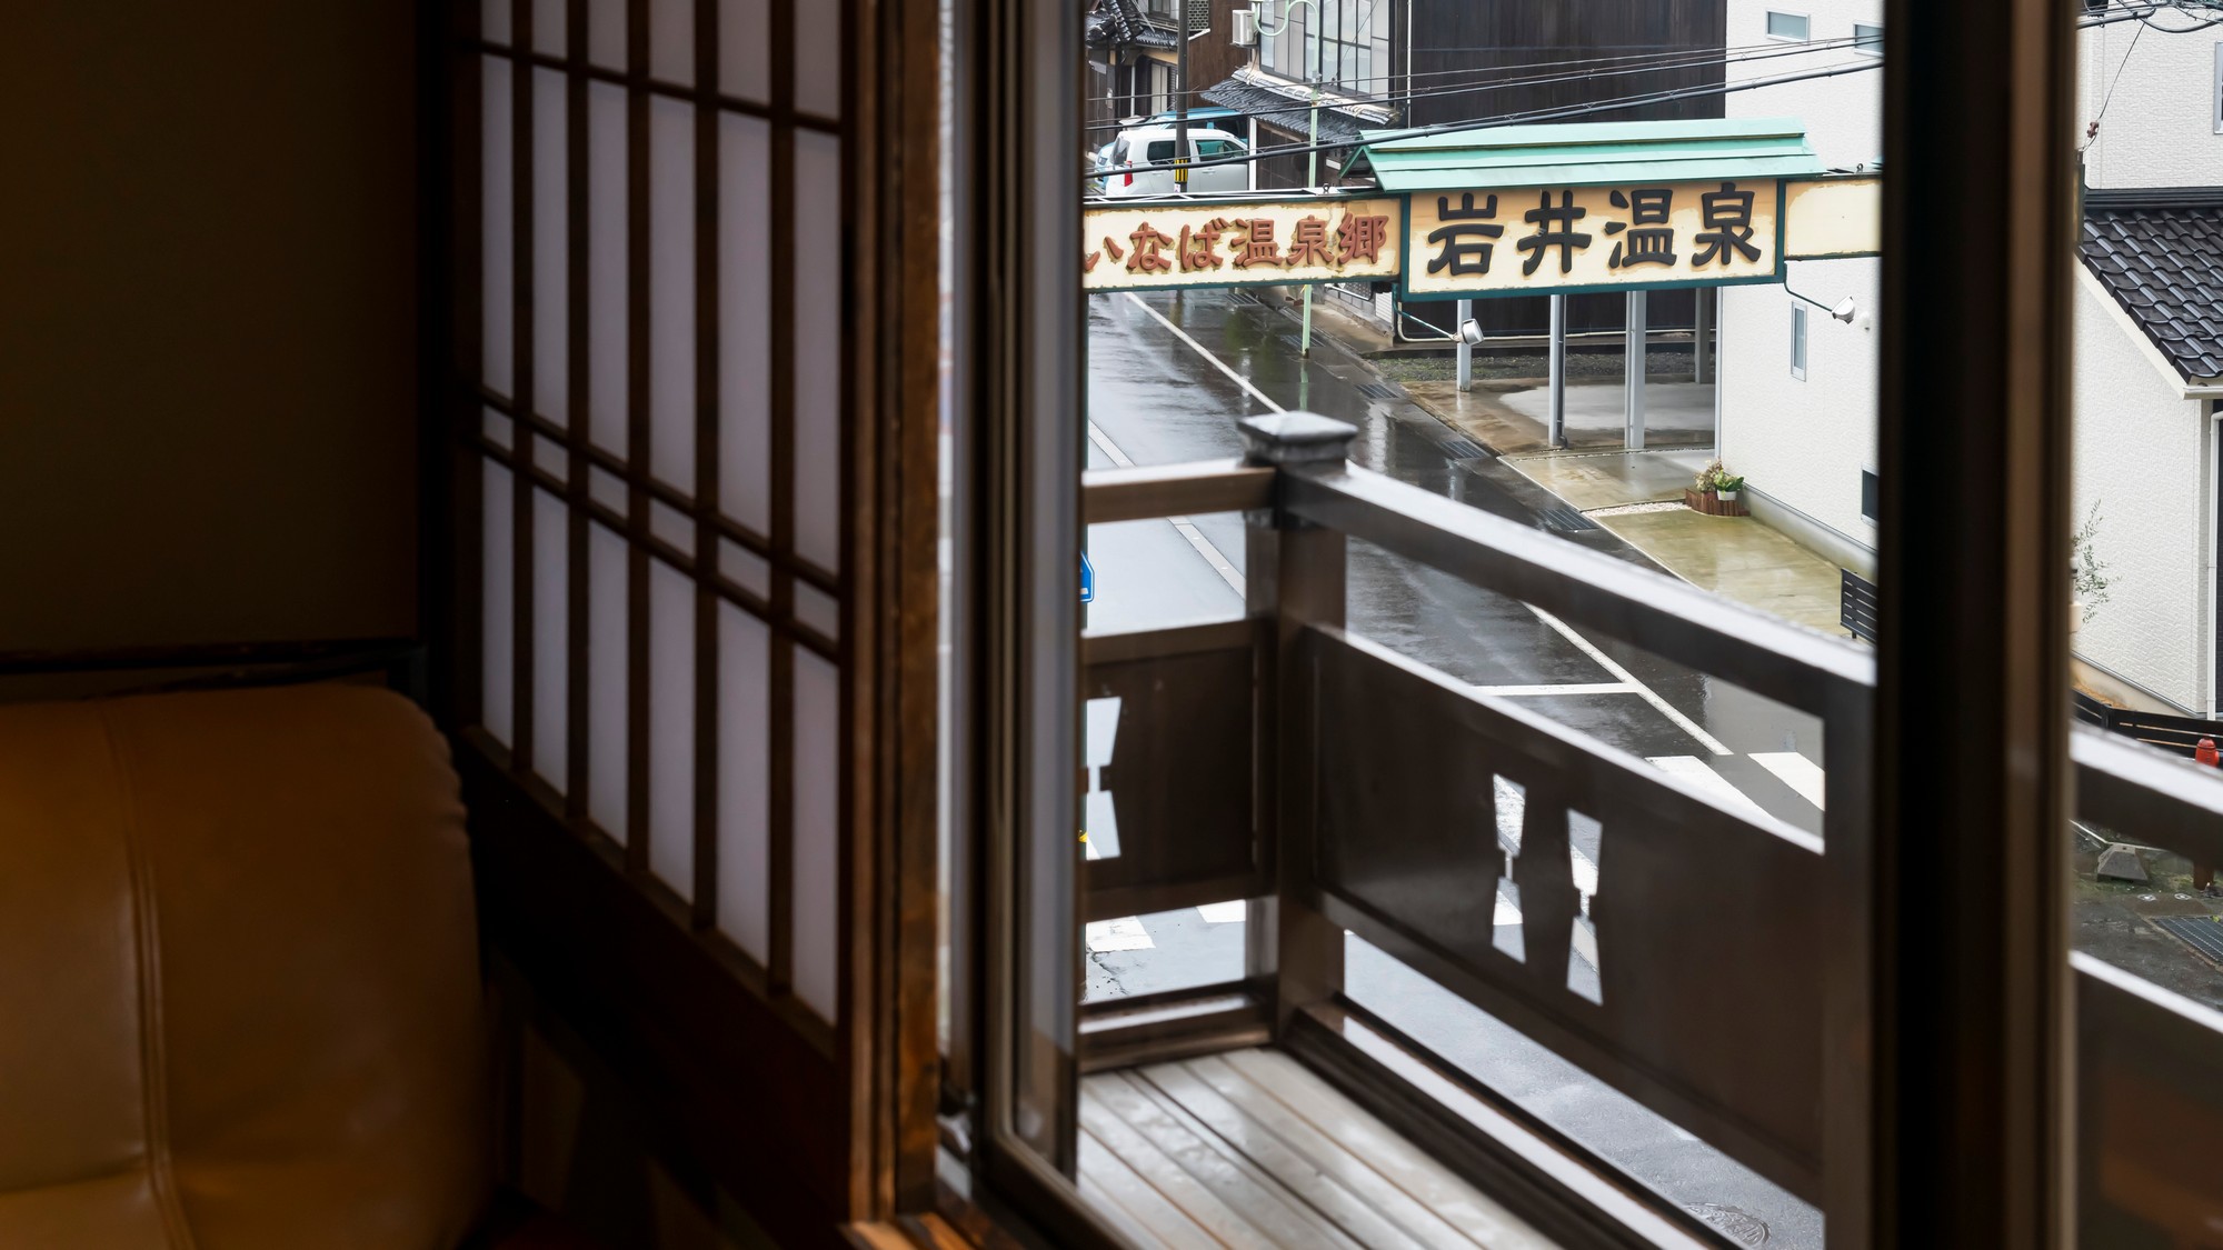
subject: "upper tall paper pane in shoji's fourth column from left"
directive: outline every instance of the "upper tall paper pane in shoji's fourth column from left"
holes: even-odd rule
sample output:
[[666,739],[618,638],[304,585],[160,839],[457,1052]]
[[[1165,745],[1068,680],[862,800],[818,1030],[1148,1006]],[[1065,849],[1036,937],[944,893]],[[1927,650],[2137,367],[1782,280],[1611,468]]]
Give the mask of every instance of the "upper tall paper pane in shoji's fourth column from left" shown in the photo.
[[694,492],[694,105],[649,102],[649,467]]

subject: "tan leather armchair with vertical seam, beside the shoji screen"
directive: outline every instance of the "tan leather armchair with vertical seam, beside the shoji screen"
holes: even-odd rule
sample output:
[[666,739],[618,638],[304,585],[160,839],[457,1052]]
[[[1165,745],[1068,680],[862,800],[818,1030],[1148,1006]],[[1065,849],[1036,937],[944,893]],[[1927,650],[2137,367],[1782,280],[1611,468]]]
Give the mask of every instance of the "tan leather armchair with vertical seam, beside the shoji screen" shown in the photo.
[[489,1199],[485,1032],[411,703],[0,707],[0,1246],[451,1250]]

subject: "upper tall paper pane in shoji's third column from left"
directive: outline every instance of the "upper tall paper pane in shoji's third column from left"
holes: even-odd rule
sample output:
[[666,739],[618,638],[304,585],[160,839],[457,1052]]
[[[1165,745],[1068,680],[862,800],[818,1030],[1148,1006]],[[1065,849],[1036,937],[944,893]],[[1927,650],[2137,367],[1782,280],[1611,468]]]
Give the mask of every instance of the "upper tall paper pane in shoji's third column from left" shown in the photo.
[[589,436],[625,456],[625,87],[587,87],[587,403]]

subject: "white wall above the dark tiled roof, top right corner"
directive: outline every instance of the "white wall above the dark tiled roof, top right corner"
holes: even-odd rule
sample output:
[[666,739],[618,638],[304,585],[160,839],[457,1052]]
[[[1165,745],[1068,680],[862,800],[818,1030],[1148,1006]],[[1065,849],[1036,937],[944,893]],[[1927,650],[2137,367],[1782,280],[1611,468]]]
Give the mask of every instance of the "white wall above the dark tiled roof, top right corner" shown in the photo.
[[2076,140],[2083,142],[2085,127],[2099,120],[2099,138],[2085,147],[2090,187],[2223,187],[2223,136],[2216,133],[2223,27],[2165,33],[2192,24],[2183,13],[2163,11],[2152,29],[2112,22],[2079,38]]

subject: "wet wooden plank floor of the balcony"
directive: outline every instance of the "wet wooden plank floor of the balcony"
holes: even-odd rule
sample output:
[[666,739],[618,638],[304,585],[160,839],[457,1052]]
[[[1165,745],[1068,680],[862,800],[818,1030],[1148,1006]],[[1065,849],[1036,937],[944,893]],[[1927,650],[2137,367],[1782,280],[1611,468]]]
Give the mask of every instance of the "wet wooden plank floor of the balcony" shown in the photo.
[[1080,1192],[1138,1246],[1552,1246],[1272,1050],[1087,1077]]

